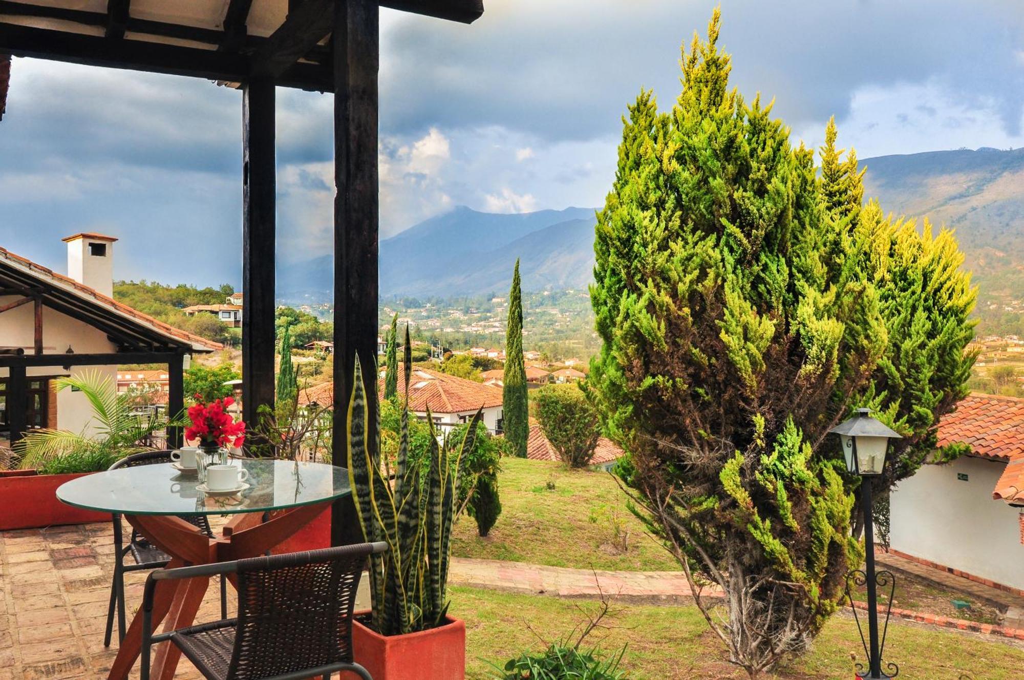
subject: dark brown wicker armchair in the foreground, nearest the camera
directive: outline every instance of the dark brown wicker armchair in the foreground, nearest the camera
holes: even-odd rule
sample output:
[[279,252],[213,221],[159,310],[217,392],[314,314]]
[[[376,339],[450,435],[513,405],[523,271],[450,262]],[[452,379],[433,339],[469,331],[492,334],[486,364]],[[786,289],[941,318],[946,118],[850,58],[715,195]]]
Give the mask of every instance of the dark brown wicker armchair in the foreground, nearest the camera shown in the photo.
[[[150,680],[151,646],[175,644],[208,680],[299,680],[352,671],[352,610],[359,575],[385,543],[253,557],[150,573],[142,596],[140,680]],[[239,615],[153,634],[156,585],[168,579],[234,573]]]

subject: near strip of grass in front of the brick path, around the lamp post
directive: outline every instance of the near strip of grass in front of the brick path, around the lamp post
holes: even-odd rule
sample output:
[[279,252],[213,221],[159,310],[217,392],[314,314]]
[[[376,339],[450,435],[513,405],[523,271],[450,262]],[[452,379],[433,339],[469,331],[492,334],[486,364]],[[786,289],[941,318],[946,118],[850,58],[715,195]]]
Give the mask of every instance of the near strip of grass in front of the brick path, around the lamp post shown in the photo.
[[[539,595],[515,595],[472,588],[452,588],[451,611],[466,621],[467,678],[492,677],[488,661],[504,663],[523,650],[543,647],[545,640],[569,632],[583,620],[577,608],[594,602]],[[716,678],[742,680],[746,675],[726,661],[724,647],[694,606],[613,604],[609,631],[598,631],[592,643],[602,647],[628,643],[624,670],[634,680]],[[778,673],[784,680],[850,678],[850,654],[863,655],[853,620],[836,615],[813,650]],[[900,667],[901,678],[958,680],[969,671],[981,680],[1017,678],[1024,649],[997,638],[943,631],[895,621],[890,624],[886,656]]]

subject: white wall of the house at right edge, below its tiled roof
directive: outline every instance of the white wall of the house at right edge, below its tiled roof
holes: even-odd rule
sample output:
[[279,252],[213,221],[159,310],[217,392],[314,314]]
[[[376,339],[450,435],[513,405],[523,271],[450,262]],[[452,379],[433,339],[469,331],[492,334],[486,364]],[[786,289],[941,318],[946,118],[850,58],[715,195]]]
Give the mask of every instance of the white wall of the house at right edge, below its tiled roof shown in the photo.
[[[890,504],[893,549],[1024,588],[1018,510],[992,500],[1005,467],[961,458],[949,465],[925,465],[901,481]],[[967,481],[957,473],[967,474]]]

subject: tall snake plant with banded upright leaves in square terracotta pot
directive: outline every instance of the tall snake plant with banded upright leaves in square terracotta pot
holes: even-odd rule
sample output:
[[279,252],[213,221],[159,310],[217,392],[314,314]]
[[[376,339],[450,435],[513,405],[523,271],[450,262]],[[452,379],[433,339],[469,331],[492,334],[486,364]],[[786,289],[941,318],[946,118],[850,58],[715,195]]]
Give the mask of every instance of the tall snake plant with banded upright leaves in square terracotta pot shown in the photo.
[[[387,552],[370,558],[373,599],[372,627],[381,635],[402,635],[444,623],[445,585],[451,559],[452,521],[459,475],[466,452],[476,438],[481,412],[473,416],[466,437],[456,450],[447,439],[432,437],[429,465],[410,460],[409,382],[411,342],[406,329],[404,408],[395,469],[380,456],[380,423],[369,422],[367,389],[358,357],[348,405],[348,477],[359,524],[367,541],[384,541]],[[367,445],[375,437],[377,445]],[[373,452],[373,453],[372,453]]]

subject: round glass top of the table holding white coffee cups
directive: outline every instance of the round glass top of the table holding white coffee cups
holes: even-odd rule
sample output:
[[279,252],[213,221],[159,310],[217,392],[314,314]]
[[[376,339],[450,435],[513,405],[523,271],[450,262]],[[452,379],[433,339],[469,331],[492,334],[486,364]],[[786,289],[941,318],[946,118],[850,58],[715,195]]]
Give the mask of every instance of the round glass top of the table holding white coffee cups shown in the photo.
[[249,472],[236,494],[197,488],[196,473],[180,473],[170,463],[140,465],[72,479],[57,498],[78,508],[125,515],[206,515],[282,510],[326,503],[348,496],[348,470],[326,463],[232,459]]

